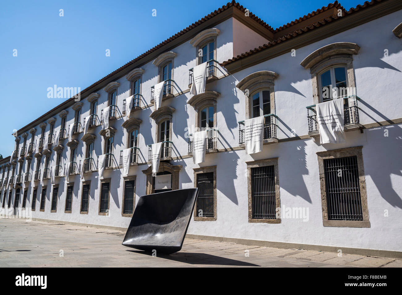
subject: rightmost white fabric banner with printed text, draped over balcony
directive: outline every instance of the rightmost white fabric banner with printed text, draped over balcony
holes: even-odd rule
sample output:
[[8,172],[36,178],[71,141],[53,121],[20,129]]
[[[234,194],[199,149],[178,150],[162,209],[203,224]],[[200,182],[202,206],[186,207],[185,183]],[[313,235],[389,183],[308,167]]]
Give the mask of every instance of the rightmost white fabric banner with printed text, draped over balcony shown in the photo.
[[320,143],[345,143],[343,98],[316,105]]

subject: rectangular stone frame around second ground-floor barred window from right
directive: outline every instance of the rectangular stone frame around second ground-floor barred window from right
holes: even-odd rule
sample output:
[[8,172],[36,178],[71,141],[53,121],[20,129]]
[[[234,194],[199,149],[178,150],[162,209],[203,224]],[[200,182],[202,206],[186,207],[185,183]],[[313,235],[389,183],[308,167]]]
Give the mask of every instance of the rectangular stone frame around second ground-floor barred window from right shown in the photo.
[[[269,224],[279,224],[281,223],[281,218],[276,219],[263,219],[263,218],[252,218],[252,197],[251,197],[251,168],[264,167],[264,166],[274,166],[275,173],[275,209],[281,208],[281,197],[279,194],[279,171],[278,171],[278,159],[271,158],[265,160],[256,160],[246,162],[247,164],[247,195],[248,195],[248,222],[249,223],[269,223]],[[275,213],[277,211],[275,210]]]

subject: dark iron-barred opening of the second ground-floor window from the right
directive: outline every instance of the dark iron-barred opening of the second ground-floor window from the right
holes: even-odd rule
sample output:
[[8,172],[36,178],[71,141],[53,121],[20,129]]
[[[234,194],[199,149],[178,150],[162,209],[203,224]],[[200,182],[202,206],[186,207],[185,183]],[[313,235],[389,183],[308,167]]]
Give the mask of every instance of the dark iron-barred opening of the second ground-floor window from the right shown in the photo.
[[276,219],[274,166],[251,168],[252,218]]

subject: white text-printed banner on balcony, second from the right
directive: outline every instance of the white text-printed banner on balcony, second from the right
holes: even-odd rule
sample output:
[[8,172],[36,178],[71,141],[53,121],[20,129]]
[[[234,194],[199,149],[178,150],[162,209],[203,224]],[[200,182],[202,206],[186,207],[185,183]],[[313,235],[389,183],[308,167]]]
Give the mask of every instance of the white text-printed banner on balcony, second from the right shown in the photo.
[[244,121],[244,146],[247,154],[259,153],[263,150],[264,116]]

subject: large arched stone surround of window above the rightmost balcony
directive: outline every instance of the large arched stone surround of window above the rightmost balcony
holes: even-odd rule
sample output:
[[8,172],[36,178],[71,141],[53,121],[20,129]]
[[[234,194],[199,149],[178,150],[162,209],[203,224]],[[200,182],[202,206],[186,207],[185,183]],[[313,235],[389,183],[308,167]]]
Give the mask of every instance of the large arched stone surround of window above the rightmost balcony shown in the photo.
[[348,87],[355,87],[353,55],[357,55],[359,50],[360,47],[355,43],[336,42],[317,49],[300,63],[305,69],[310,69],[314,104],[321,102],[318,74],[329,67],[345,65]]

